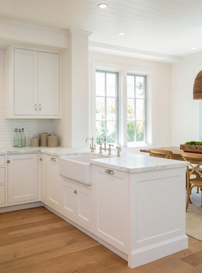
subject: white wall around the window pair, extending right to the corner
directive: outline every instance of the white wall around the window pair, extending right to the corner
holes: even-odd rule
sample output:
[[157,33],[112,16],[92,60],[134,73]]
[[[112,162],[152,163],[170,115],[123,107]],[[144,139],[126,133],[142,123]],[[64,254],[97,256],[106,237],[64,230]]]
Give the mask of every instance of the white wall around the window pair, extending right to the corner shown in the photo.
[[[170,146],[170,64],[115,56],[102,53],[89,52],[89,82],[92,81],[92,62],[101,62],[107,64],[124,65],[128,67],[140,67],[140,69],[152,69],[154,71],[153,82],[153,144],[155,147]],[[91,121],[91,119],[90,119]],[[89,121],[89,123],[90,123]],[[124,151],[139,152],[138,148],[127,148]]]

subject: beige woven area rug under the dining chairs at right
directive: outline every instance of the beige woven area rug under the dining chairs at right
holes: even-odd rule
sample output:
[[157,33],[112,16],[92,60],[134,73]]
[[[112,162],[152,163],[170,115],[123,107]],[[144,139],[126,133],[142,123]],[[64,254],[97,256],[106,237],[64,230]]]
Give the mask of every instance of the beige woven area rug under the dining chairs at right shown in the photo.
[[186,235],[202,241],[202,207],[201,207],[201,191],[196,192],[193,187],[190,195],[192,204],[189,203],[186,212]]

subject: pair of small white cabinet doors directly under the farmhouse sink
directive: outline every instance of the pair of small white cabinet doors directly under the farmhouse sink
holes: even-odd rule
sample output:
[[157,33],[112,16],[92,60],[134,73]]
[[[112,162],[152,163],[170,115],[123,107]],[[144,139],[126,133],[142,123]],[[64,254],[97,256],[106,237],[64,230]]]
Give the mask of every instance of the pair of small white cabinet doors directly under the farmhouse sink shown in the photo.
[[92,228],[92,190],[62,178],[62,211]]

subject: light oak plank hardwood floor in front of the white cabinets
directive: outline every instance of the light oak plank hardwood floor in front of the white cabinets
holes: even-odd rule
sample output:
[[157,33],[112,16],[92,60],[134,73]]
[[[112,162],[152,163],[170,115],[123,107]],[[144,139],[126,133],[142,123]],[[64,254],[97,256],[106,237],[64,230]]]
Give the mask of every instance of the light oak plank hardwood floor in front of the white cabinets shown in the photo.
[[202,242],[154,262],[128,263],[44,207],[0,214],[1,273],[201,273]]

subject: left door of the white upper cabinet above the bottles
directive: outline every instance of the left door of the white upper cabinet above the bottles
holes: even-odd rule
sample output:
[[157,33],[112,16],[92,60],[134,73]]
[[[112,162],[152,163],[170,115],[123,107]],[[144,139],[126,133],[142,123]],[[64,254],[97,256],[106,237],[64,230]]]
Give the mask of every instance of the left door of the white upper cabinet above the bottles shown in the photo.
[[14,114],[38,115],[37,51],[14,49]]

